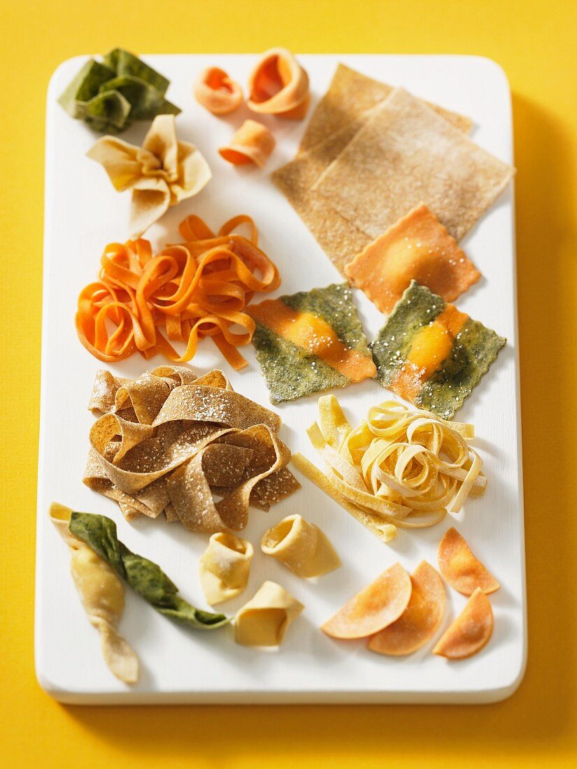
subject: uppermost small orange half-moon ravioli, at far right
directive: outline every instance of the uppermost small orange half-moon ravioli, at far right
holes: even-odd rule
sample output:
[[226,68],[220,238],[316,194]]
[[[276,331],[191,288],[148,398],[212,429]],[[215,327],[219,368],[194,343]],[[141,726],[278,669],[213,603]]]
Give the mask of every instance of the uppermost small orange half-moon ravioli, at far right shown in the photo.
[[500,587],[453,527],[445,531],[439,542],[439,569],[451,587],[463,595],[472,595],[477,588],[488,595]]

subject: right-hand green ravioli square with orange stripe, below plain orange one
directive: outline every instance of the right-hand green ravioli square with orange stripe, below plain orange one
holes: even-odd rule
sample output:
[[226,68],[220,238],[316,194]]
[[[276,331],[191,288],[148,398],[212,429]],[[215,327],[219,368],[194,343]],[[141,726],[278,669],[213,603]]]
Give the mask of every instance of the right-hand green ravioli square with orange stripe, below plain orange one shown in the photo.
[[495,331],[412,281],[371,349],[383,387],[451,419],[505,343]]

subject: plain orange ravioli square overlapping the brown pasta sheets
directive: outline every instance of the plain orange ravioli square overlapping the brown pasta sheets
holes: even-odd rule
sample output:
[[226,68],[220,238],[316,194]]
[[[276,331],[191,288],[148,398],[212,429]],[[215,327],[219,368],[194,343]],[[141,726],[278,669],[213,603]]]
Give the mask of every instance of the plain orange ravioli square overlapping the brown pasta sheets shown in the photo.
[[426,205],[412,208],[345,266],[345,275],[389,313],[412,280],[454,301],[481,273]]

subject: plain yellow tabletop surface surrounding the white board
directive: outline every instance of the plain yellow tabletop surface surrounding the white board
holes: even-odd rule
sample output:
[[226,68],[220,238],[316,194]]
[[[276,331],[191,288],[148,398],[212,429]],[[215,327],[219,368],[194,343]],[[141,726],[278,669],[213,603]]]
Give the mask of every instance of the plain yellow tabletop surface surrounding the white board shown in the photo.
[[[304,8],[304,10],[303,10]],[[28,767],[481,767],[577,757],[575,0],[0,0],[0,753]],[[62,59],[135,52],[460,53],[512,86],[529,668],[479,707],[62,707],[32,628],[45,92]],[[216,62],[218,63],[218,61]],[[83,255],[78,255],[83,258]],[[8,451],[6,452],[6,449]],[[5,453],[6,452],[6,453]]]

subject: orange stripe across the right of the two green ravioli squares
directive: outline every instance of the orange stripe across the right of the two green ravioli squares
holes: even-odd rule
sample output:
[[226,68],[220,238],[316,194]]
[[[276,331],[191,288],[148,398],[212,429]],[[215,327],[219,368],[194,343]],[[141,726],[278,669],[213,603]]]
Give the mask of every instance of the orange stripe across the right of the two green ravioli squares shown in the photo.
[[469,315],[446,305],[434,321],[419,328],[391,389],[401,398],[414,401],[423,383],[449,358],[455,337],[468,320]]

